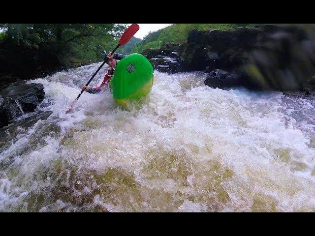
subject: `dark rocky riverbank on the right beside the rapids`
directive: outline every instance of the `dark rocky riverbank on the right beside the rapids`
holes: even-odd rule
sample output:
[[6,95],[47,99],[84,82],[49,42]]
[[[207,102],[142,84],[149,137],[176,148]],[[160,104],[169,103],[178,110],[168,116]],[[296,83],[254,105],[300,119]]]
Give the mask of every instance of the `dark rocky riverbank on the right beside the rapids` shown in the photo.
[[315,37],[298,27],[193,30],[143,54],[162,72],[204,71],[210,87],[314,91]]

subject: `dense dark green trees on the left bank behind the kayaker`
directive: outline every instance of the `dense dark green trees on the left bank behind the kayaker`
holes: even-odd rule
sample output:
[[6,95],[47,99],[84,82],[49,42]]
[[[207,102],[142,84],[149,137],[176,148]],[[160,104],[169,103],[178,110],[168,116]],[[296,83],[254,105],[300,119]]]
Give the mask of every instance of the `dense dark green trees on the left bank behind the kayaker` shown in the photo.
[[[30,77],[102,59],[126,24],[0,24],[0,78]],[[132,38],[118,52],[130,53]]]

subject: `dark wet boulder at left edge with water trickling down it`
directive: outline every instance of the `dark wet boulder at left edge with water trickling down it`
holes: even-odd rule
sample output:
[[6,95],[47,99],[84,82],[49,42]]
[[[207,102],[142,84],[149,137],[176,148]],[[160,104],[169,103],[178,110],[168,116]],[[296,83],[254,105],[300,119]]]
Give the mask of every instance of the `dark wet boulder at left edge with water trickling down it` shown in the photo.
[[17,82],[0,91],[0,127],[8,125],[14,118],[33,112],[44,99],[42,84]]

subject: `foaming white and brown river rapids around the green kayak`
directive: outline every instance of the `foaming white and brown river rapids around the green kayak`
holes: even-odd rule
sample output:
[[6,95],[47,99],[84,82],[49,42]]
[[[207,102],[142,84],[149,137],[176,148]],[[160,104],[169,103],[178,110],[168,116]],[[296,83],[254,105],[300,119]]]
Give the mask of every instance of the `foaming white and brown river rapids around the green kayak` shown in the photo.
[[130,112],[105,89],[65,114],[99,65],[28,81],[45,99],[0,130],[0,211],[315,211],[314,95],[155,71]]

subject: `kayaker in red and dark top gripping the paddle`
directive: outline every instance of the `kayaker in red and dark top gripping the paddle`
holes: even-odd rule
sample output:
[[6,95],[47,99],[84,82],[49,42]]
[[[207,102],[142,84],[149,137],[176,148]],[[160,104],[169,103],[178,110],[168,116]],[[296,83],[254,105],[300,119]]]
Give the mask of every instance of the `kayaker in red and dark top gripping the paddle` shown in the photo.
[[[105,52],[105,55],[106,55],[106,52]],[[110,69],[107,71],[107,74],[104,76],[104,80],[101,83],[101,85],[95,86],[92,88],[89,88],[89,86],[83,86],[82,89],[84,89],[85,91],[87,91],[89,93],[99,93],[102,90],[102,88],[109,83],[110,79],[114,75],[114,71],[115,71],[115,68],[117,65],[117,60],[121,60],[125,57],[126,57],[126,55],[119,54],[119,53],[114,53],[114,55],[111,55],[111,52],[109,52],[106,55],[106,58],[107,58],[106,63],[109,65]]]

